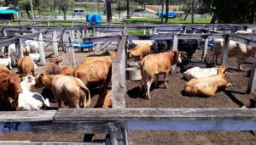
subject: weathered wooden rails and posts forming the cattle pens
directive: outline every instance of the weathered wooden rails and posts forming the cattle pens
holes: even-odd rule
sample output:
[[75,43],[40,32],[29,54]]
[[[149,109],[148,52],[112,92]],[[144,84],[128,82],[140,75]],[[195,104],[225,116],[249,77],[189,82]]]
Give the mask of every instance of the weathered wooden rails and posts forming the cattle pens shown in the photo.
[[[256,30],[256,25],[73,25],[40,26],[8,25],[0,26],[2,31],[0,47],[16,44],[19,56],[21,43],[25,39],[38,41],[40,64],[46,63],[41,42],[53,46],[58,57],[59,47],[68,53],[69,64],[76,66],[73,42],[97,42],[96,51],[119,42],[117,57],[113,61],[111,88],[113,109],[58,109],[42,111],[1,112],[0,122],[29,122],[33,133],[81,133],[84,142],[30,142],[0,141],[1,144],[129,144],[127,130],[166,131],[253,131],[256,130],[256,109],[172,109],[172,108],[125,108],[126,88],[126,41],[127,40],[173,40],[172,49],[177,50],[179,39],[205,40],[201,60],[207,56],[208,39],[223,38],[224,47],[220,64],[228,59],[230,40],[256,47],[255,33],[235,34],[241,29]],[[44,23],[45,24],[45,23]],[[47,24],[47,23],[46,23]],[[129,30],[149,30],[149,35],[130,36]],[[113,32],[108,35],[108,32]],[[106,33],[106,34],[105,34]],[[79,35],[78,35],[79,34]],[[101,36],[101,34],[103,34]],[[46,39],[46,36],[52,39]],[[101,44],[98,42],[106,42]],[[58,47],[59,46],[59,47]],[[247,93],[256,91],[256,54],[252,73],[247,85]],[[172,71],[175,70],[173,67]],[[103,142],[90,142],[90,134],[108,134]]]

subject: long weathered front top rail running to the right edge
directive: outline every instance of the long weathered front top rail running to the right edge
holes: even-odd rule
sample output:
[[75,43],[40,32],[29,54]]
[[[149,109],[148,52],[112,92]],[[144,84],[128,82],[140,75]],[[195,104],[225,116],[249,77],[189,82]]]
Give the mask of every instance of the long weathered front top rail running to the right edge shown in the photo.
[[[55,121],[256,120],[256,109],[59,109]],[[256,122],[254,122],[256,124]],[[256,127],[256,126],[255,126]]]

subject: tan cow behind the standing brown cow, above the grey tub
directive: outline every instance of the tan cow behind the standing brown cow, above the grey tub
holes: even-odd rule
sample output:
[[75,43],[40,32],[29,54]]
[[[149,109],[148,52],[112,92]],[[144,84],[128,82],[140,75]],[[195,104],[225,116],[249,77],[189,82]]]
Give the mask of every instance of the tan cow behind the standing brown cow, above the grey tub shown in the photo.
[[127,53],[130,58],[142,60],[143,56],[146,56],[150,53],[150,47],[151,45],[148,43],[140,43],[128,50]]

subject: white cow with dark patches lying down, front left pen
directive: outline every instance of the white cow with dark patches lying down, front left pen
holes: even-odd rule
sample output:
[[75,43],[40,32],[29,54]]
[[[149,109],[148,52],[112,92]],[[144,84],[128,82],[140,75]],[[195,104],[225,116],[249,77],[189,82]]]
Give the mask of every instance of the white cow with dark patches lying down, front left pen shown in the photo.
[[27,75],[20,82],[22,91],[19,94],[18,107],[19,111],[34,111],[40,110],[44,106],[49,107],[49,100],[44,99],[38,92],[31,92],[31,88],[35,86],[35,77]]

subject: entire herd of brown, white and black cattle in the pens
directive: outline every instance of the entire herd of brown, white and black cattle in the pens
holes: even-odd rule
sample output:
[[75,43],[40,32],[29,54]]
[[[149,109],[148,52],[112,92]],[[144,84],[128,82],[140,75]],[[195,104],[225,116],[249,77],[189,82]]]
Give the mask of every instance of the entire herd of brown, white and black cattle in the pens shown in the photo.
[[[237,31],[249,33],[247,31]],[[195,42],[188,43],[190,47],[178,45],[178,51],[172,51],[170,42],[166,41],[138,41],[127,51],[128,59],[139,59],[142,80],[139,84],[145,98],[150,99],[150,87],[156,77],[157,86],[159,75],[164,75],[165,87],[167,75],[175,64],[182,62],[181,52],[187,52],[187,60],[191,60],[197,46]],[[84,58],[76,68],[68,66],[60,67],[62,59],[49,59],[44,71],[35,74],[37,65],[34,61],[40,59],[38,42],[26,41],[22,48],[24,57],[15,59],[15,45],[8,47],[7,59],[0,59],[0,110],[39,110],[49,107],[49,99],[43,97],[43,93],[32,92],[32,88],[48,89],[57,101],[69,105],[70,108],[88,108],[90,106],[90,91],[100,86],[100,95],[96,108],[108,109],[112,106],[112,92],[108,90],[111,81],[112,63],[116,52],[106,52],[99,55],[89,55]],[[45,44],[44,44],[45,45]],[[167,45],[167,49],[166,49]],[[159,48],[164,46],[164,48]],[[213,51],[218,59],[219,50],[222,50],[223,40],[214,40]],[[192,49],[192,50],[191,50]],[[3,49],[4,50],[4,49]],[[239,60],[238,69],[241,70],[241,62],[251,56],[253,47],[230,41],[229,57]],[[152,53],[153,52],[153,53]],[[149,54],[150,53],[150,54]],[[18,72],[12,70],[11,65],[16,63]],[[9,66],[9,68],[7,68]],[[10,69],[10,70],[9,70]],[[183,76],[188,82],[184,84],[183,92],[188,96],[213,96],[218,90],[231,84],[226,81],[227,68],[216,66],[214,68],[194,67],[186,70]]]

